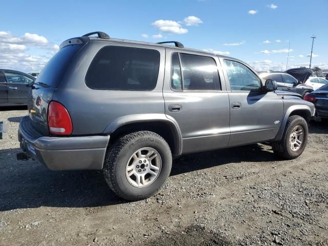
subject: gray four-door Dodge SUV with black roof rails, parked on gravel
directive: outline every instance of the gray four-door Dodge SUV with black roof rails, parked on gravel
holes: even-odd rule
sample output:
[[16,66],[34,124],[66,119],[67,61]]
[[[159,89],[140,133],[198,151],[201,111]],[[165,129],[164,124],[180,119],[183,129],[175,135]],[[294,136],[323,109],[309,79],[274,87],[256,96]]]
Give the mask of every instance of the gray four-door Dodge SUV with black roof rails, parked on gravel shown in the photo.
[[118,196],[139,200],[163,185],[172,156],[267,141],[285,159],[303,152],[312,103],[238,59],[173,43],[66,40],[31,87],[17,158],[103,170]]

